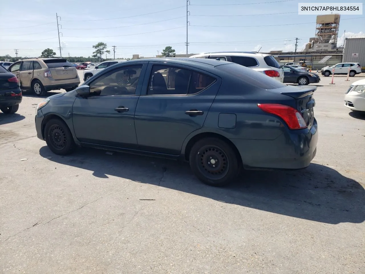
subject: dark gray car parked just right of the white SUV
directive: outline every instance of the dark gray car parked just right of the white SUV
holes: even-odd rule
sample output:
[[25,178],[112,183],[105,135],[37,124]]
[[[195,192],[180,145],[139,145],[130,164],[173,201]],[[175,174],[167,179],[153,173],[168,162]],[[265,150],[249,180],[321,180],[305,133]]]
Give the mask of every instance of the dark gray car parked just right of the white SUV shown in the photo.
[[281,65],[284,71],[284,83],[297,83],[299,85],[308,85],[319,83],[320,78],[318,74],[313,72],[306,72],[302,69],[296,69],[292,66]]

